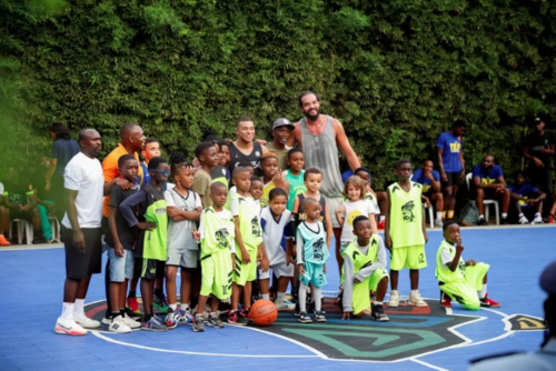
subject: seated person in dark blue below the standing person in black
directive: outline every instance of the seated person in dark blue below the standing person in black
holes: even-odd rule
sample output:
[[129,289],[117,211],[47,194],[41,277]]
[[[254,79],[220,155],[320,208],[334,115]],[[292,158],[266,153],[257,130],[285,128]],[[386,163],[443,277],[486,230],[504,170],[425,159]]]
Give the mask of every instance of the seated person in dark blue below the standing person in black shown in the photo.
[[515,200],[519,223],[529,224],[529,220],[525,217],[524,211],[536,210],[533,224],[543,224],[540,213],[543,212],[543,200],[546,199],[546,193],[536,187],[525,183],[523,171],[516,172],[514,180],[515,183],[509,184],[508,189],[512,192],[512,199]]

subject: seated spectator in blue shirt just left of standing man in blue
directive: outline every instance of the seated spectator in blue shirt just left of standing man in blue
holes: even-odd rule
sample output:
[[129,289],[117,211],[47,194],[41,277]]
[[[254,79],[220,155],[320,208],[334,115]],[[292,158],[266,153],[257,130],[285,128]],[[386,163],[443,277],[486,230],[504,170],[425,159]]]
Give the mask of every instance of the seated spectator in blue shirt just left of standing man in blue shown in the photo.
[[430,200],[436,205],[436,220],[435,227],[443,228],[444,212],[444,197],[440,189],[440,174],[438,171],[433,170],[433,161],[425,160],[421,169],[414,172],[411,180],[423,186],[421,198],[426,203],[427,209],[430,208]]

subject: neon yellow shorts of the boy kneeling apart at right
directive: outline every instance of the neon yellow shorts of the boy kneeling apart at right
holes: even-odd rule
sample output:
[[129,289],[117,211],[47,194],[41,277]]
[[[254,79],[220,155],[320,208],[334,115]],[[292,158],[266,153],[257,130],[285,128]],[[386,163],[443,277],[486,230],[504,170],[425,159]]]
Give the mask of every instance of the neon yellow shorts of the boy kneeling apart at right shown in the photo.
[[483,289],[483,279],[489,268],[490,265],[486,263],[466,267],[464,279],[454,282],[439,282],[438,285],[444,293],[465,309],[478,310],[480,301],[477,291]]

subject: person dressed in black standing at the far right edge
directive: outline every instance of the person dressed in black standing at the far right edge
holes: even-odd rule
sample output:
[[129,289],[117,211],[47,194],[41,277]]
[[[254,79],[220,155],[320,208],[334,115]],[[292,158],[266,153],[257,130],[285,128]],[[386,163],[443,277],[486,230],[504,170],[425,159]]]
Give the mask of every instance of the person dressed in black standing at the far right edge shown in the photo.
[[536,118],[535,131],[523,141],[523,156],[529,160],[528,174],[533,184],[537,186],[553,201],[553,177],[550,157],[554,156],[554,137],[545,131],[545,122]]

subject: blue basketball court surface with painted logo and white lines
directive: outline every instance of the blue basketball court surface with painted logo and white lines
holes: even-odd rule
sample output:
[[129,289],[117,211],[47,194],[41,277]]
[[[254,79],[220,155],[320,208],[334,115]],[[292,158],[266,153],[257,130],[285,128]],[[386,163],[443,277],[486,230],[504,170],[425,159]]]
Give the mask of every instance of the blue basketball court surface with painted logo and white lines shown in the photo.
[[[466,370],[477,357],[537,349],[544,300],[538,277],[556,259],[556,229],[463,230],[464,259],[490,264],[489,295],[502,303],[477,312],[457,304],[450,312],[438,304],[435,259],[441,233],[428,235],[420,292],[430,309],[386,309],[387,323],[342,321],[327,299],[326,324],[301,324],[281,312],[267,329],[207,327],[195,333],[180,325],[162,333],[91,331],[81,338],[53,330],[62,307],[63,249],[0,250],[0,370]],[[338,287],[334,257],[327,267],[324,291],[332,297]],[[408,271],[400,273],[399,290],[409,293]],[[87,298],[89,315],[103,297],[99,274]]]

